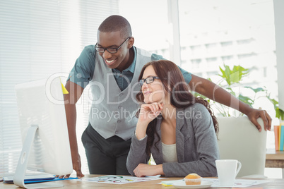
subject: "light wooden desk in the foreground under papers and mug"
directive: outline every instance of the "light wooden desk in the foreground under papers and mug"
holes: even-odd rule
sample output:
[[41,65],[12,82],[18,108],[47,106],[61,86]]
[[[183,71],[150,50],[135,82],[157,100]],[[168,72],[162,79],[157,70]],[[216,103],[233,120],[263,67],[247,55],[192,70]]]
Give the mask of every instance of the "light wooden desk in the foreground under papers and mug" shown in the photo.
[[[91,177],[96,177],[96,176],[102,176],[102,175],[85,175],[84,178],[91,178]],[[146,182],[140,182],[140,183],[129,183],[129,184],[122,184],[122,185],[116,185],[116,184],[106,184],[106,183],[90,183],[90,182],[81,182],[81,181],[76,181],[76,180],[68,180],[68,181],[56,181],[58,183],[61,183],[64,185],[63,188],[134,188],[134,189],[145,189],[145,188],[159,188],[159,189],[172,189],[174,186],[168,186],[165,187],[163,185],[157,184],[160,183],[161,181],[173,181],[173,180],[179,180],[182,178],[165,178],[161,180],[155,180],[155,181],[146,181]],[[251,186],[250,188],[262,188],[262,189],[283,189],[284,185],[284,179],[268,179],[271,180],[272,182],[270,183],[265,183],[262,185],[254,185]],[[16,185],[13,184],[5,184],[3,182],[0,183],[0,188],[18,188]],[[213,189],[213,188],[211,188]],[[214,188],[218,189],[218,188]]]

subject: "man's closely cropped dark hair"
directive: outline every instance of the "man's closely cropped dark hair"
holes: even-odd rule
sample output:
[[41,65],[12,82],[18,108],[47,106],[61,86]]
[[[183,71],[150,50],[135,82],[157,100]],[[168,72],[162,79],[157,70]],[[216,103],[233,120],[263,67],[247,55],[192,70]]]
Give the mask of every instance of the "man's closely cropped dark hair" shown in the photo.
[[119,15],[107,17],[98,29],[100,32],[117,32],[121,31],[121,37],[127,38],[132,36],[131,26],[126,18]]

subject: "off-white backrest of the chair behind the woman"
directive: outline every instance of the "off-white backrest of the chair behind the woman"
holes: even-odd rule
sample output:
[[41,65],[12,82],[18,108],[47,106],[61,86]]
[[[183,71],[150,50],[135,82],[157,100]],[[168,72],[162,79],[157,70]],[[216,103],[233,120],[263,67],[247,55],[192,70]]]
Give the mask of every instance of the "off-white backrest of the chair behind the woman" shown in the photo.
[[218,117],[220,159],[237,159],[242,169],[237,177],[263,175],[266,161],[266,131],[261,118],[261,132],[247,116]]

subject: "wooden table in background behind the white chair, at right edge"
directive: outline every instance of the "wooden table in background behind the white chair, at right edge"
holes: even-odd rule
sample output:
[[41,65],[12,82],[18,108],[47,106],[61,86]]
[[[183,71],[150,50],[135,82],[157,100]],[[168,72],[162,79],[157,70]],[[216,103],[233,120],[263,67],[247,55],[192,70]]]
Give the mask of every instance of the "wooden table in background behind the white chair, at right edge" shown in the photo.
[[282,168],[282,178],[284,178],[284,152],[268,149],[265,167]]

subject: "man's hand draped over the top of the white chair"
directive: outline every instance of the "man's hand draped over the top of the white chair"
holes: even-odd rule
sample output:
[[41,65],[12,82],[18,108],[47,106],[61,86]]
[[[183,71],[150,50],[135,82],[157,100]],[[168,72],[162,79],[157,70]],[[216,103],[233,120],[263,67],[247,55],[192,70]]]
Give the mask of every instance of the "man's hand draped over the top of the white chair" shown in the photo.
[[264,121],[264,130],[271,130],[271,117],[267,114],[265,110],[262,109],[252,109],[249,111],[247,114],[247,117],[249,118],[252,123],[256,126],[256,128],[261,131],[261,126],[259,123],[256,121],[257,118],[261,117],[262,120]]

